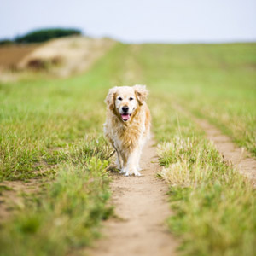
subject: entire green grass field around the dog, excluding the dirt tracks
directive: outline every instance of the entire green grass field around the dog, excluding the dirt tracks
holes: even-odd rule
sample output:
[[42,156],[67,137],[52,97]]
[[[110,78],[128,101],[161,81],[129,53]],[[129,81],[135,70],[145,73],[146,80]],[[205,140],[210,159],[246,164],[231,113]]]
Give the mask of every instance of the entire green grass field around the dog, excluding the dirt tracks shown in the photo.
[[183,253],[253,255],[255,190],[175,106],[255,156],[255,67],[256,44],[117,44],[88,73],[0,84],[0,178],[45,180],[2,225],[1,255],[32,255],[35,247],[37,255],[65,255],[98,236],[112,213],[103,99],[117,84],[150,90],[160,176],[176,212],[170,230]]

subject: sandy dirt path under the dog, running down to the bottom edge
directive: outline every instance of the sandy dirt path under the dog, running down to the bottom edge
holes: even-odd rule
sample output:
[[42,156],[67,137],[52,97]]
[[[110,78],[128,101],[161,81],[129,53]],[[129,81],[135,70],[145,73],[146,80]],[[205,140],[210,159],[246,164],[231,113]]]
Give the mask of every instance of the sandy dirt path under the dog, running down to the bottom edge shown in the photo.
[[119,218],[107,221],[103,237],[88,253],[91,256],[175,255],[177,241],[165,224],[171,215],[166,183],[159,171],[154,141],[143,150],[142,177],[113,174],[113,204]]

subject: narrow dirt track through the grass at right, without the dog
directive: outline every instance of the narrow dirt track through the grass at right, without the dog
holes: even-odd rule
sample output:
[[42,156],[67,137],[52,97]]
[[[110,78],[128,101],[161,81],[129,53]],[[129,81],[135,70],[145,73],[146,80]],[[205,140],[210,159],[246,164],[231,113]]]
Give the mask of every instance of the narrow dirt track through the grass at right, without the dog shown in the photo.
[[206,119],[196,118],[180,105],[175,104],[174,108],[178,112],[185,113],[197,125],[206,132],[207,138],[214,143],[218,152],[223,155],[224,160],[233,164],[238,172],[247,177],[256,187],[256,160],[245,148],[239,148],[232,142],[231,138],[224,135],[214,125],[211,125]]

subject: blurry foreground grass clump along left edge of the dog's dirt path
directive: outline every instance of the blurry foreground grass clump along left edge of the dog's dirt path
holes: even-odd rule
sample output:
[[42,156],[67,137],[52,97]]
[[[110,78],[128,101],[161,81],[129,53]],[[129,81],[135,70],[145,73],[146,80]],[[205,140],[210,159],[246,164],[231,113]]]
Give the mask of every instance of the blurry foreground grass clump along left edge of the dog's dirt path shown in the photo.
[[113,212],[107,206],[108,148],[95,138],[65,155],[43,193],[28,195],[25,206],[2,224],[0,255],[67,255],[100,236],[102,219]]

